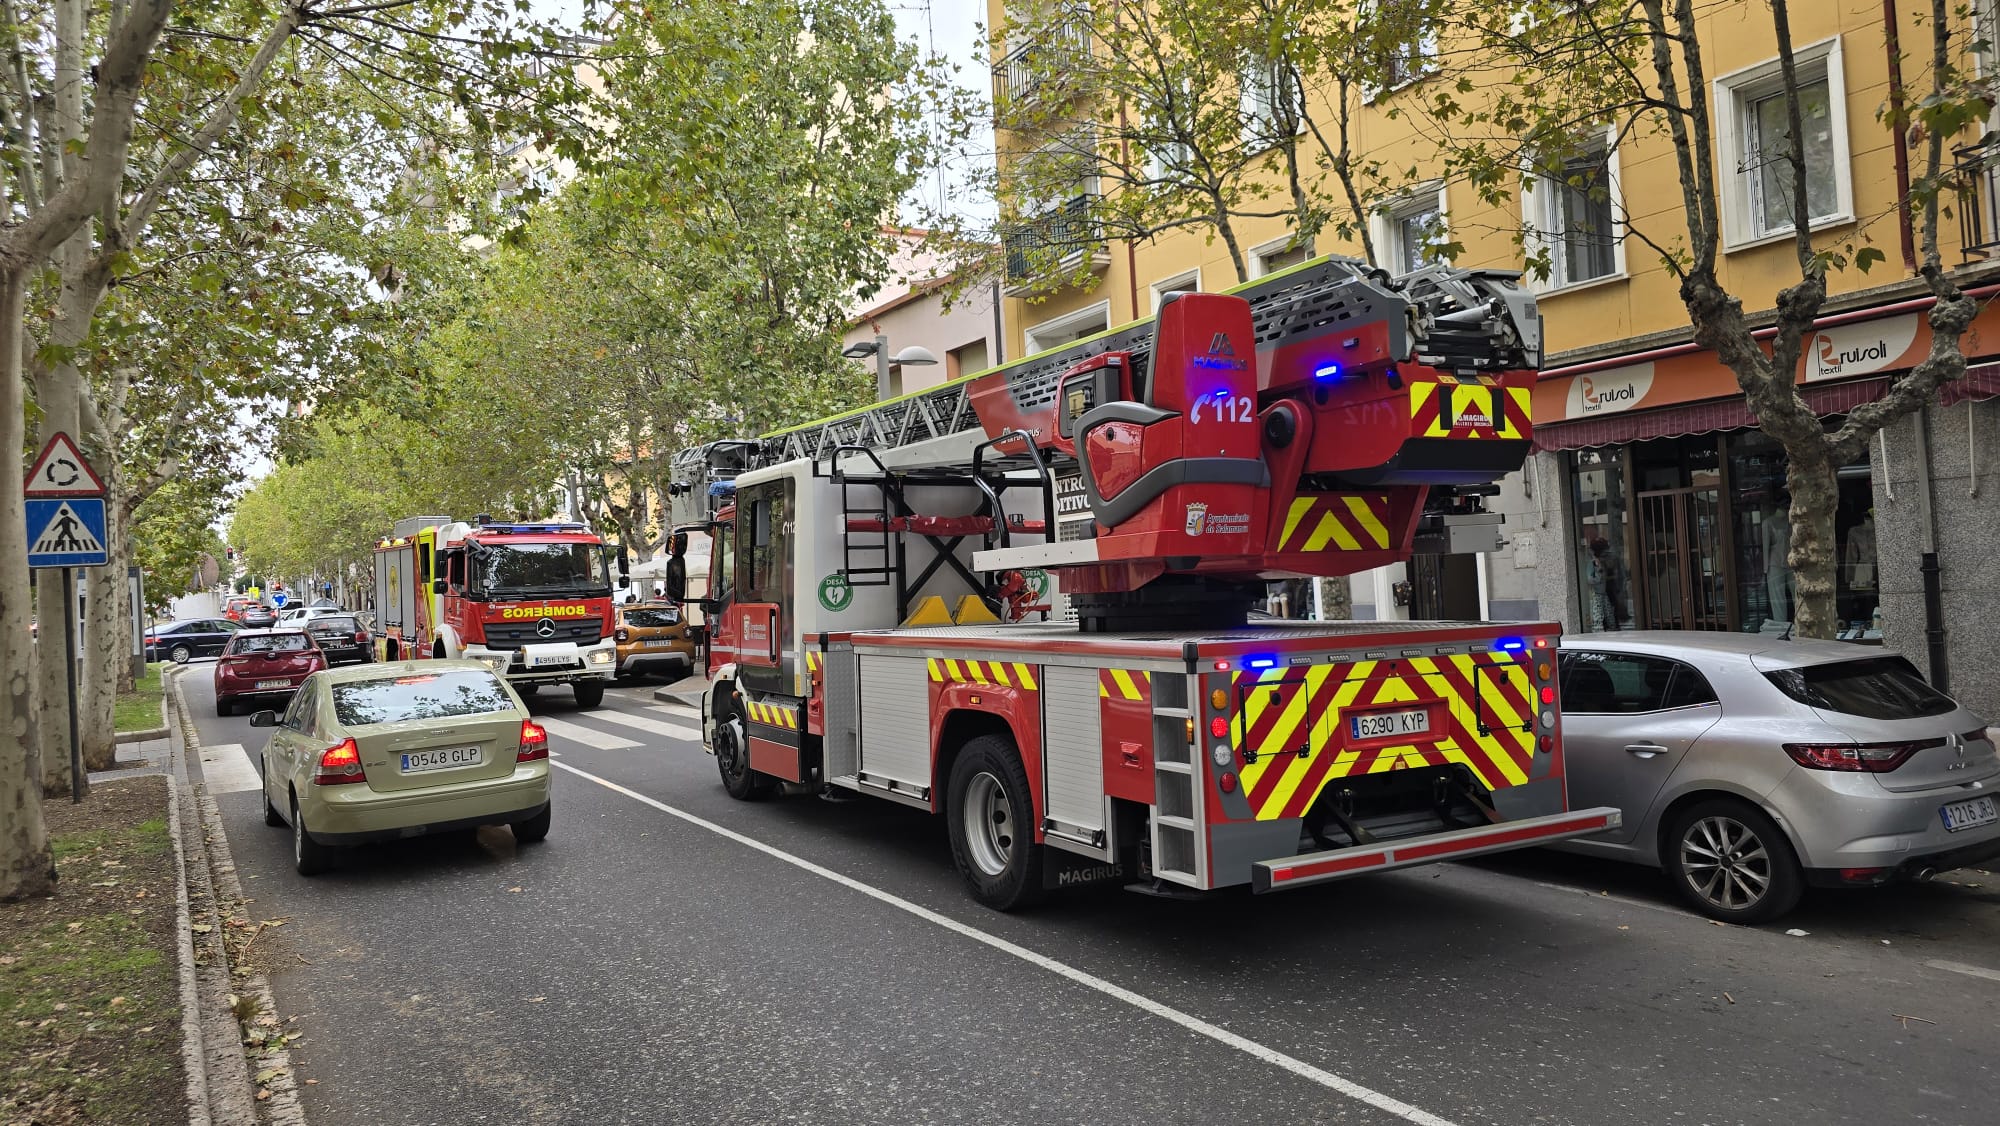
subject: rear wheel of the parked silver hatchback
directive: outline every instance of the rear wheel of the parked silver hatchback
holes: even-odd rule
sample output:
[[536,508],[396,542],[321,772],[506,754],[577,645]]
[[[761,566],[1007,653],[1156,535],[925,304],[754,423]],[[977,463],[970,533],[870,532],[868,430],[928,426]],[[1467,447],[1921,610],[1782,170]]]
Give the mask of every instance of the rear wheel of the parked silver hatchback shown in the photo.
[[1660,842],[1660,860],[1674,892],[1722,922],[1770,922],[1798,906],[1806,890],[1784,830],[1738,798],[1706,798],[1682,810]]

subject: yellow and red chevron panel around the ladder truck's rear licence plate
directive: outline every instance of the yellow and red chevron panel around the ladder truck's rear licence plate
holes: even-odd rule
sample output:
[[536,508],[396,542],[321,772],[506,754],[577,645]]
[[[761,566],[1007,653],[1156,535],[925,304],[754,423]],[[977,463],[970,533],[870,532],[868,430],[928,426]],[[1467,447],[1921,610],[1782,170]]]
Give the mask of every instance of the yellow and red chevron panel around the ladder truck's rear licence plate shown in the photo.
[[[1524,724],[1534,722],[1534,688],[1512,654],[1272,668],[1234,680],[1242,704],[1230,740],[1238,758],[1256,754],[1240,762],[1256,820],[1304,816],[1328,782],[1356,774],[1462,764],[1488,790],[1528,780],[1534,730]],[[1350,710],[1394,704],[1438,706],[1424,742],[1348,746]]]

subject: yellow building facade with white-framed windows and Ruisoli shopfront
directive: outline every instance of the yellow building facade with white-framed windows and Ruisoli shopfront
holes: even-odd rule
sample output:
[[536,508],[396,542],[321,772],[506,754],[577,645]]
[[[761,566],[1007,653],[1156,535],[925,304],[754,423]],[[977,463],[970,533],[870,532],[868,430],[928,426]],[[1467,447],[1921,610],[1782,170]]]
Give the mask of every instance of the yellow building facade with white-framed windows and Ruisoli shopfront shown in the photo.
[[[1990,10],[1992,2],[1982,0],[1976,18],[1990,20]],[[1758,160],[1770,152],[1774,122],[1784,120],[1778,44],[1768,4],[1736,0],[1704,4],[1700,12],[1710,80],[1700,96],[1716,124],[1714,164],[1722,180],[1718,272],[1756,320],[1798,280],[1788,196]],[[996,92],[1004,98],[1008,84],[1020,82],[1016,62],[1048,48],[1008,38],[1006,0],[988,0],[988,16],[996,28]],[[1928,16],[1928,4],[1900,4],[1896,36],[1908,52],[1900,82],[1910,102],[1930,84],[1924,62],[1932,30],[1918,16]],[[1830,300],[1808,342],[1798,376],[1802,394],[1820,414],[1838,418],[1880,396],[1928,344],[1926,290],[1906,260],[1898,214],[1898,148],[1906,176],[1922,174],[1924,152],[1920,144],[1898,146],[1880,120],[1898,68],[1882,0],[1794,2],[1790,18],[1814,242],[1874,246],[1886,256],[1868,272],[1846,268],[1830,276]],[[1544,318],[1544,368],[1534,396],[1538,452],[1496,498],[1494,508],[1508,520],[1502,552],[1470,566],[1420,560],[1416,568],[1356,576],[1356,616],[1560,618],[1572,632],[1782,630],[1792,610],[1782,558],[1788,500],[1782,452],[1754,430],[1734,376],[1690,344],[1678,280],[1648,246],[1672,246],[1686,232],[1672,144],[1648,132],[1606,144],[1594,172],[1602,176],[1596,200],[1542,180],[1490,206],[1466,184],[1440,176],[1420,114],[1412,112],[1414,100],[1436,92],[1434,82],[1456,80],[1446,68],[1462,66],[1454,58],[1462,44],[1448,30],[1440,34],[1442,42],[1422,40],[1422,50],[1442,60],[1430,78],[1374,92],[1354,110],[1356,150],[1416,172],[1364,200],[1366,222],[1376,262],[1392,272],[1420,262],[1438,226],[1446,232],[1442,242],[1458,246],[1452,262],[1472,268],[1522,268],[1524,228],[1530,248],[1540,246],[1538,238],[1554,242],[1554,274],[1534,282]],[[1994,36],[1966,30],[1956,58],[1990,68],[1966,58],[1976,38]],[[1330,116],[1324,106],[1314,112]],[[1952,160],[1984,160],[1978,142],[1974,132],[1952,138],[1952,148],[1964,150]],[[1012,144],[1020,150],[1032,140]],[[1000,148],[1008,152],[1010,138]],[[1594,236],[1564,238],[1564,224],[1588,208],[1604,208],[1592,216],[1596,222],[1584,224]],[[1236,220],[1236,228],[1252,278],[1308,252],[1362,252],[1332,234],[1320,234],[1310,248],[1292,246],[1288,222],[1276,218]],[[1978,296],[1986,296],[1988,276],[2000,280],[1988,268],[1990,244],[2000,240],[1994,230],[1992,176],[1982,166],[1968,176],[1966,192],[1948,200],[1940,222],[1944,264]],[[1238,284],[1226,246],[1212,234],[1188,228],[1146,242],[1110,240],[1090,260],[1094,284],[1054,294],[1028,298],[1032,280],[1014,278],[1016,296],[1004,310],[1008,354],[1150,316],[1166,290]],[[1972,476],[1986,444],[2000,440],[2000,410],[1988,402],[2000,396],[2000,316],[1982,314],[1964,348],[1968,378],[1946,388],[1922,418],[1892,424],[1866,464],[1842,472],[1838,610],[1842,636],[1886,642],[1940,680],[1954,668],[1958,694],[1992,714],[2000,710],[2000,672],[1978,668],[1990,662],[1970,654],[1954,666],[1950,650],[1976,644],[1972,622],[1984,622],[1978,632],[2000,628],[2000,600],[1978,594],[2000,586],[2000,564],[1984,558],[1990,552],[1978,540],[1960,534],[2000,528],[1994,500],[2000,488],[1980,490]],[[1926,490],[1936,500],[1920,500]],[[1890,542],[1930,550],[1898,550],[1890,558],[1878,550]],[[1924,612],[1926,554],[1942,560],[1944,620],[1954,620],[1954,608],[1974,614],[1958,618],[1966,628],[1942,646],[1944,624]]]

